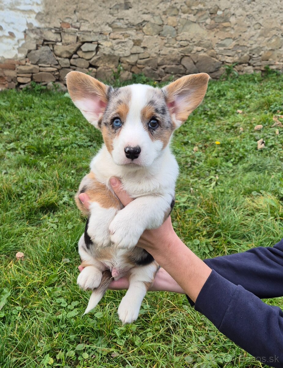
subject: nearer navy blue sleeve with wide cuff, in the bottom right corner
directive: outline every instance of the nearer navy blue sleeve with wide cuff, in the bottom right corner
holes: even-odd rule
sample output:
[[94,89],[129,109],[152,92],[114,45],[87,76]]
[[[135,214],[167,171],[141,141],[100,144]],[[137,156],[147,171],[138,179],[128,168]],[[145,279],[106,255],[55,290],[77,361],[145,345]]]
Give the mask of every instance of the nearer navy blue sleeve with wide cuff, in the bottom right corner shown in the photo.
[[195,309],[225,336],[272,367],[283,367],[283,313],[212,270]]

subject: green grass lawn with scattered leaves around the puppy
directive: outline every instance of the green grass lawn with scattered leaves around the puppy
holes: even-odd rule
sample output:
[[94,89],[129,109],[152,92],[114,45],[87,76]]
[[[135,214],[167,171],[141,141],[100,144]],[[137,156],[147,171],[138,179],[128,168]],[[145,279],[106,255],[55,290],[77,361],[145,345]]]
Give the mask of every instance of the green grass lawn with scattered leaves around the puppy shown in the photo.
[[[210,81],[203,104],[176,132],[173,225],[201,258],[283,237],[276,114],[283,114],[283,76],[242,75]],[[108,291],[83,316],[89,293],[76,277],[85,219],[73,195],[101,142],[64,93],[0,93],[0,367],[262,367],[182,295],[148,293],[138,320],[122,326],[124,292]],[[283,298],[266,302],[283,308]]]

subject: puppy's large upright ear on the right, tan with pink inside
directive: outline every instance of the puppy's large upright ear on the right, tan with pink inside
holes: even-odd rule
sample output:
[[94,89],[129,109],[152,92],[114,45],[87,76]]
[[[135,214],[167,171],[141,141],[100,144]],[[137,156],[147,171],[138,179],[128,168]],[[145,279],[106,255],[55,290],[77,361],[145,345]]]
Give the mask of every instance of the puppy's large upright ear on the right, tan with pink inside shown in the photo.
[[202,102],[209,78],[210,76],[206,73],[185,75],[162,88],[177,128]]

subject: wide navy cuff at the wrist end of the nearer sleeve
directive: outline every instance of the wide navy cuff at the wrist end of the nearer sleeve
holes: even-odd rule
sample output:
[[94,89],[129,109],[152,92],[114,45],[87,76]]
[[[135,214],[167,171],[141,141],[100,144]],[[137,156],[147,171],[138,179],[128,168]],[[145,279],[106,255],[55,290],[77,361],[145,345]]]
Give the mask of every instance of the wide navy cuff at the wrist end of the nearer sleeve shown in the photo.
[[219,328],[236,289],[235,284],[212,270],[196,299],[195,310]]

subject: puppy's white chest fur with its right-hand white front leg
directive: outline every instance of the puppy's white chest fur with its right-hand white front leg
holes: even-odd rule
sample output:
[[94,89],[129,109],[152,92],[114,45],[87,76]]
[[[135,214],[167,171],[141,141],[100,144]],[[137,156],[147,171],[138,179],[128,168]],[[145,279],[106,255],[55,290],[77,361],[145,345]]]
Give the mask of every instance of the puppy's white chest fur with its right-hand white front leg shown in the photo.
[[[167,147],[150,166],[128,168],[113,162],[105,146],[90,164],[95,177],[108,186],[110,177],[121,179],[124,190],[137,198],[117,212],[109,226],[110,239],[119,248],[134,247],[145,229],[155,229],[174,198],[178,164]],[[96,225],[97,226],[97,225]]]

